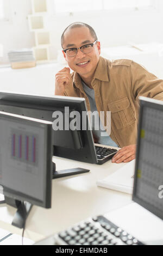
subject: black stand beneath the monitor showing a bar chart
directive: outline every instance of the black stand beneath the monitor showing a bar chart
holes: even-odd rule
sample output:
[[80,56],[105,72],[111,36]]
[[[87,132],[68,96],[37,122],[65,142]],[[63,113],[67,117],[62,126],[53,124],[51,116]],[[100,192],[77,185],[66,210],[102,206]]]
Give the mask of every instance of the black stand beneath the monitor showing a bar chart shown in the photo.
[[24,228],[28,214],[32,208],[32,204],[15,200],[9,197],[5,197],[5,203],[17,208],[14,219],[12,221],[12,225],[17,228]]

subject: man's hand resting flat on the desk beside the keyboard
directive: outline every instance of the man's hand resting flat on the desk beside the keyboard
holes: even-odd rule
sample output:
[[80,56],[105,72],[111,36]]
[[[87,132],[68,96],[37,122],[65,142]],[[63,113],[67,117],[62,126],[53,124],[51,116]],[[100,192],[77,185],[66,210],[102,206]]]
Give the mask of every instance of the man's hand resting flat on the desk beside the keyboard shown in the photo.
[[118,150],[118,152],[112,157],[112,163],[127,163],[135,159],[136,145],[128,145]]

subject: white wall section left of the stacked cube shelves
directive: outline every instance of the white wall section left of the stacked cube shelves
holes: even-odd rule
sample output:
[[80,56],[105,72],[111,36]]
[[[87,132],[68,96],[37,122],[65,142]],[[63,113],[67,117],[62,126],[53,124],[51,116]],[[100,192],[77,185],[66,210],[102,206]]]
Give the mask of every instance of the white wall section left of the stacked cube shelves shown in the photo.
[[28,48],[34,45],[34,33],[29,32],[27,15],[32,13],[30,0],[10,1],[11,17],[9,22],[0,21],[0,44],[3,44],[3,58],[7,62],[10,50]]

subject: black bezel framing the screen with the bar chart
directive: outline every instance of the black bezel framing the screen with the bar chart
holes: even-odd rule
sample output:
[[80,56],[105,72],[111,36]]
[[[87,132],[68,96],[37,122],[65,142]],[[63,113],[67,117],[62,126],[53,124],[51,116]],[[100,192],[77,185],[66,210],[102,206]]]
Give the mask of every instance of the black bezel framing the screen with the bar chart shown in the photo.
[[34,121],[31,118],[23,118],[22,116],[15,117],[14,115],[10,115],[9,113],[0,113],[0,118],[5,120],[16,121],[17,123],[21,122],[24,125],[33,125],[35,127],[40,127],[40,125],[44,129],[45,134],[45,153],[44,159],[45,170],[43,172],[43,201],[37,198],[33,198],[21,192],[17,192],[16,190],[10,189],[9,187],[3,186],[3,194],[6,197],[9,197],[14,200],[19,200],[21,202],[28,202],[32,205],[41,206],[43,208],[51,208],[51,200],[52,200],[52,123],[43,123],[42,120]]

